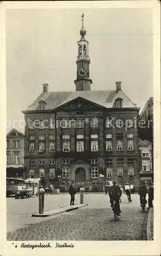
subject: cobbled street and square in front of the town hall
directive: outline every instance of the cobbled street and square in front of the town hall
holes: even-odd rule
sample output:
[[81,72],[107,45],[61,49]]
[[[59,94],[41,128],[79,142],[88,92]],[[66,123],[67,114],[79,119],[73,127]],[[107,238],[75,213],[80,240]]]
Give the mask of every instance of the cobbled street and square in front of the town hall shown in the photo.
[[[104,194],[85,194],[88,206],[47,218],[31,217],[38,211],[38,198],[7,199],[7,240],[144,240],[142,228],[145,213],[139,206],[139,196],[124,195],[121,217],[113,220],[109,197]],[[44,210],[68,205],[69,195],[45,196]],[[76,204],[79,203],[76,195]]]

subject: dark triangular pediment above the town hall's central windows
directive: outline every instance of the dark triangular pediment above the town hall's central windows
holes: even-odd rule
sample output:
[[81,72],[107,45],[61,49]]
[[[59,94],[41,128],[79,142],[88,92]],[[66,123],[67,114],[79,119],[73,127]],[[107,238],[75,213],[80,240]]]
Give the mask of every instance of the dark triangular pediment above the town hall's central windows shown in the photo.
[[55,110],[86,110],[86,109],[103,109],[104,106],[101,106],[93,101],[84,99],[82,97],[77,97],[71,101],[68,101],[62,105],[59,105]]

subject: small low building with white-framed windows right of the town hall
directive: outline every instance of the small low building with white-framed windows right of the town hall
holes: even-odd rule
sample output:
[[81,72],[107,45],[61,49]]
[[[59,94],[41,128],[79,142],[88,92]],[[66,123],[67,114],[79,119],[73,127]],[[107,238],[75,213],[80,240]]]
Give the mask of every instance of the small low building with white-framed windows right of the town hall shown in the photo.
[[140,180],[153,181],[153,149],[148,140],[139,139],[140,150]]

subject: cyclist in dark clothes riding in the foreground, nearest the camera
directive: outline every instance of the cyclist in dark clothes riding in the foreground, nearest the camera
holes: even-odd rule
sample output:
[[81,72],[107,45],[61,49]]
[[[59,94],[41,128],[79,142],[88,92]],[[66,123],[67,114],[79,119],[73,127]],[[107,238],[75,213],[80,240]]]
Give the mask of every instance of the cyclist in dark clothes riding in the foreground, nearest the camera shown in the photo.
[[116,185],[116,181],[112,181],[112,186],[109,187],[108,195],[110,198],[110,203],[112,210],[113,208],[113,202],[115,201],[117,203],[117,208],[118,208],[118,216],[120,216],[121,210],[120,210],[120,197],[122,194],[122,191],[120,189],[120,186]]

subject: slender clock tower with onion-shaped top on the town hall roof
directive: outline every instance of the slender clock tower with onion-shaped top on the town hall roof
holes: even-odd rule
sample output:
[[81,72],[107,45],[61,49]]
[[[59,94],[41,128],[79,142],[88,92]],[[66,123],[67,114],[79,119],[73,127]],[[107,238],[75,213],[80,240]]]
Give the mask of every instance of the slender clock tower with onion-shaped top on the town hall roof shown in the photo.
[[86,30],[83,27],[83,19],[84,14],[82,15],[82,28],[80,30],[81,39],[78,41],[77,79],[74,81],[76,91],[90,91],[90,84],[92,83],[92,80],[89,78],[90,59],[88,55],[88,41],[84,38]]

